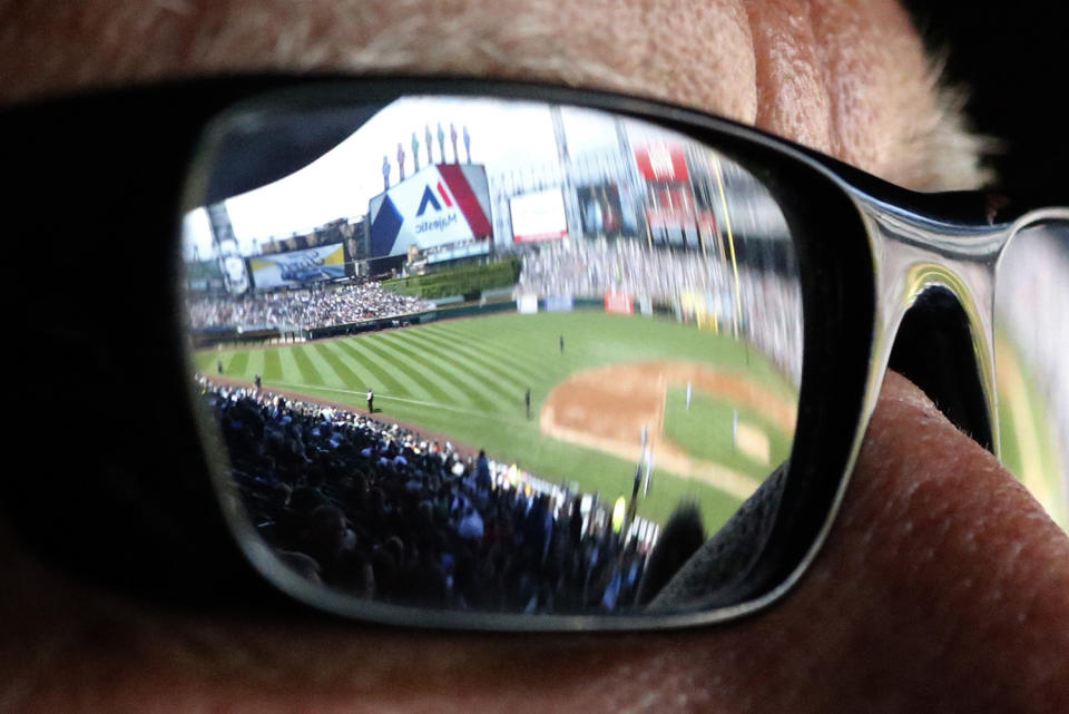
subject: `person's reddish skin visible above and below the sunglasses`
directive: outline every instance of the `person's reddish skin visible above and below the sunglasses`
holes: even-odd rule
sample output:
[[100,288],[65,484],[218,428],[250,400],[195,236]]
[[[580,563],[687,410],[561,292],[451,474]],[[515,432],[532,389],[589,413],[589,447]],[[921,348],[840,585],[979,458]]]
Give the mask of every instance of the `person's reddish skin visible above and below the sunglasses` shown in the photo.
[[[909,19],[882,0],[14,1],[0,2],[0,28],[6,102],[226,70],[537,78],[695,106],[916,188],[979,176]],[[810,571],[729,625],[517,636],[235,622],[92,590],[6,534],[0,711],[1055,712],[1069,701],[1069,540],[896,374]]]

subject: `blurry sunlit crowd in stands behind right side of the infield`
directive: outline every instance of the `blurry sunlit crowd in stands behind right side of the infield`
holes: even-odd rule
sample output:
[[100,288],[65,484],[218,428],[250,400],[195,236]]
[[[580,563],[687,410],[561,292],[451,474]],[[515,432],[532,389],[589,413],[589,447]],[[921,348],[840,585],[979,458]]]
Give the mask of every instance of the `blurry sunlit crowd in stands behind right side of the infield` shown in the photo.
[[[523,254],[516,292],[577,297],[624,292],[659,305],[679,305],[685,296],[700,296],[706,303],[703,311],[719,313],[719,324],[730,325],[734,275],[718,256],[694,251],[650,248],[643,241],[561,241]],[[742,334],[800,383],[802,297],[797,283],[741,264],[738,295]]]

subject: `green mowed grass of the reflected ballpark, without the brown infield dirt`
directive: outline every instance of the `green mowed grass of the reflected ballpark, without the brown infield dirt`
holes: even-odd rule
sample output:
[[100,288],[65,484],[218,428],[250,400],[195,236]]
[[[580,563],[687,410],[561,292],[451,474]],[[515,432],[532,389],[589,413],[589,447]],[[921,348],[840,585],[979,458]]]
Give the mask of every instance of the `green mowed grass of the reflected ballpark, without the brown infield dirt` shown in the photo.
[[[216,360],[223,362],[227,376],[252,381],[259,374],[266,388],[295,390],[361,409],[371,388],[377,419],[396,419],[449,434],[458,442],[484,448],[498,459],[517,462],[542,479],[576,482],[583,491],[598,491],[610,500],[630,493],[634,462],[543,437],[538,430],[542,403],[569,375],[625,362],[697,362],[796,399],[794,388],[771,362],[728,338],[665,317],[599,311],[497,314],[343,340],[206,350],[195,355],[197,369],[208,375],[215,373]],[[524,415],[527,389],[536,415],[531,420]],[[675,397],[669,398],[669,411],[674,412]],[[723,408],[703,402],[703,418]],[[690,420],[681,438],[708,457],[708,447],[695,426]],[[782,439],[776,444],[781,448]],[[766,473],[762,471],[762,476]],[[658,468],[639,512],[664,522],[683,499],[700,502],[710,530],[739,505],[737,498],[712,486]]]

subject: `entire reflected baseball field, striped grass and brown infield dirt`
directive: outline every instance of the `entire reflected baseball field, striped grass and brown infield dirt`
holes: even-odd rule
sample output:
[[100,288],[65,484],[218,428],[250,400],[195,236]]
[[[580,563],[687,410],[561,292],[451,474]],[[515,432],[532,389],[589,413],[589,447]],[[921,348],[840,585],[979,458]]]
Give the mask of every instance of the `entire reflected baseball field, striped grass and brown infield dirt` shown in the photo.
[[[563,349],[561,349],[563,342]],[[763,354],[663,316],[496,314],[295,345],[205,350],[197,370],[366,410],[615,500],[643,434],[638,512],[681,500],[715,530],[790,453],[796,389]],[[531,413],[524,395],[530,390]],[[688,398],[689,392],[689,398]]]

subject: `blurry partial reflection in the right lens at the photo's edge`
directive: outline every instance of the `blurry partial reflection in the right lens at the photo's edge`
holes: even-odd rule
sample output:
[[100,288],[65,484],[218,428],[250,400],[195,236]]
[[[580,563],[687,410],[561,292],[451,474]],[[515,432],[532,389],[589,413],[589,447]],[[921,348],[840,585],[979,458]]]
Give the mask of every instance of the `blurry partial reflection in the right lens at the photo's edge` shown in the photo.
[[1002,460],[1069,529],[1066,275],[1069,223],[1018,233],[999,263],[994,334]]

